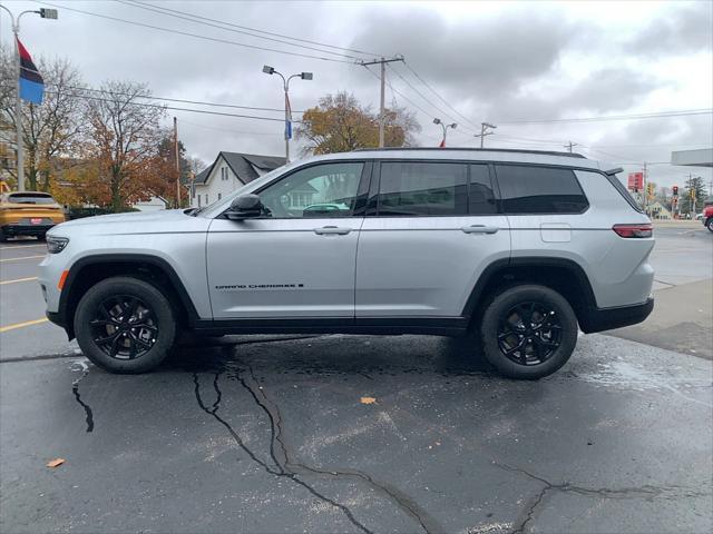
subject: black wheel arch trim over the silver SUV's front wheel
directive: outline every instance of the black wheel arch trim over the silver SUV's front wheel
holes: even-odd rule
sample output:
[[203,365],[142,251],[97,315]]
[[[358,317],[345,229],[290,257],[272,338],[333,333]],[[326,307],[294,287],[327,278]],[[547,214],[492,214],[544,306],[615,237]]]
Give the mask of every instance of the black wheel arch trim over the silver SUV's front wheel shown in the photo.
[[198,314],[188,291],[164,258],[147,254],[91,255],[70,267],[59,297],[58,319],[70,339],[75,337],[74,317],[81,297],[94,284],[115,276],[133,276],[153,284],[168,297],[180,322],[193,324],[197,320]]

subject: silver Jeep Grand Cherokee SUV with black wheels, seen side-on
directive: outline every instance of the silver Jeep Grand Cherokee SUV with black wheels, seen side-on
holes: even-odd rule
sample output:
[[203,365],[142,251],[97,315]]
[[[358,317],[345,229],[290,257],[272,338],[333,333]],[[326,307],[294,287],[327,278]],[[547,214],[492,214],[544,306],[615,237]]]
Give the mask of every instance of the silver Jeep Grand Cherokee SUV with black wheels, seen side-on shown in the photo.
[[55,227],[47,315],[116,373],[178,334],[468,336],[502,374],[561,367],[577,329],[653,309],[649,219],[576,154],[384,149],[314,157],[204,207]]

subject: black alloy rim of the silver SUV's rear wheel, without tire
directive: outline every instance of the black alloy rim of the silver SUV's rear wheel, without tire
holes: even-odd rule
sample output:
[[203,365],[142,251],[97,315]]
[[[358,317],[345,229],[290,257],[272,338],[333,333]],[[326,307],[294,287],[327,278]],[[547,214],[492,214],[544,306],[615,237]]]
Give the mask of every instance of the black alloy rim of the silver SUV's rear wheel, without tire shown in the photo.
[[498,346],[518,365],[545,363],[559,348],[561,325],[557,313],[545,303],[525,301],[501,315]]

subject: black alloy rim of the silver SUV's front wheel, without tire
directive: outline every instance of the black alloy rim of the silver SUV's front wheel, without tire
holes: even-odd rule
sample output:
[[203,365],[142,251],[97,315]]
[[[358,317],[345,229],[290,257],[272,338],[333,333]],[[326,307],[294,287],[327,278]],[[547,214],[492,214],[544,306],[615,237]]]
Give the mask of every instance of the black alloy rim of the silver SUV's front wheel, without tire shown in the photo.
[[140,358],[152,349],[159,334],[154,312],[130,295],[102,300],[89,326],[96,346],[116,359]]

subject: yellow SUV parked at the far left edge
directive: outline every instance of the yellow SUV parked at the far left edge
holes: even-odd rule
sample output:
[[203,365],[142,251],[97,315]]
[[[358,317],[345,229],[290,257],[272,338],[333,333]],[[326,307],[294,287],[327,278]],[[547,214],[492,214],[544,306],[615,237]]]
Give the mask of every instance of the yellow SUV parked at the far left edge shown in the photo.
[[49,192],[23,191],[0,195],[0,241],[13,236],[37,236],[65,221],[62,207]]

